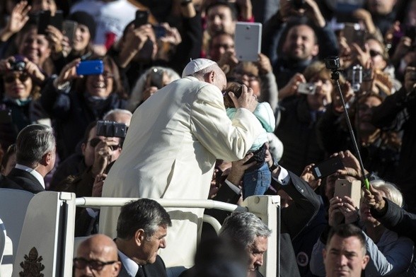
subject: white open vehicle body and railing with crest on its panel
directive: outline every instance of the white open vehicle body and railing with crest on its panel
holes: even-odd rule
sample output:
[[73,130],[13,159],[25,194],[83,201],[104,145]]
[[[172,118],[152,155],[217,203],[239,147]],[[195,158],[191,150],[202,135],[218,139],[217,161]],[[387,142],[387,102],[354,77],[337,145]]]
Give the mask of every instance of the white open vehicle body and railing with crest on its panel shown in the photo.
[[[122,206],[127,201],[136,200],[93,197],[75,199],[75,194],[44,191],[26,197],[26,203],[23,204],[22,201],[16,201],[17,194],[19,191],[14,189],[0,189],[0,218],[4,222],[7,236],[13,242],[13,249],[17,249],[4,250],[5,253],[13,254],[8,254],[9,258],[3,259],[0,264],[0,277],[19,276],[19,273],[23,276],[36,273],[42,273],[44,276],[72,276],[75,208]],[[269,239],[265,262],[260,272],[265,277],[279,276],[279,196],[250,196],[242,206],[212,200],[155,200],[166,208],[217,208],[224,211],[255,213],[272,229],[272,237]],[[21,235],[10,234],[8,230],[16,228],[13,224],[23,220],[13,220],[14,214],[22,214],[22,206],[27,206],[27,209]],[[204,216],[204,221],[211,223],[216,231],[221,227],[218,221],[210,216]],[[8,261],[8,264],[4,261]]]

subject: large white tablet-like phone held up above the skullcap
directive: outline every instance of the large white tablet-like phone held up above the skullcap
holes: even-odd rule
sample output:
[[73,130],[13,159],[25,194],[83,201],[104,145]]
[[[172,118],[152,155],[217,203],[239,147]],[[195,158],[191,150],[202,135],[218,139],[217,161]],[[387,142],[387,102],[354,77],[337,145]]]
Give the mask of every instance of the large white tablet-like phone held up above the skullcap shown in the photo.
[[234,35],[236,57],[238,61],[257,61],[262,47],[261,23],[236,23]]

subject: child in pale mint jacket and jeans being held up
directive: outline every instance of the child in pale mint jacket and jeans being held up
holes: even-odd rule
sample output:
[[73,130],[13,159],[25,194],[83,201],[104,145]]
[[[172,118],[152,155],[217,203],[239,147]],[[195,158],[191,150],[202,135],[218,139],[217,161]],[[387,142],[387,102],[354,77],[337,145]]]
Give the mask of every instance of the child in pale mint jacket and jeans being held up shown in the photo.
[[[228,93],[231,91],[238,98],[242,93],[242,89],[242,85],[232,82],[229,83],[225,89],[226,93],[224,95],[224,105],[229,119],[233,119],[237,110]],[[265,163],[265,155],[267,150],[266,143],[268,143],[267,133],[275,131],[275,115],[273,114],[272,107],[270,107],[270,104],[267,102],[258,103],[253,114],[262,124],[263,131],[262,134],[255,139],[253,145],[248,151],[248,153],[252,152],[254,155],[250,158],[250,160],[248,160],[247,163],[256,161],[257,164],[248,168],[248,170],[245,170],[243,176],[243,199],[252,195],[265,194],[265,191],[272,182],[272,175],[267,163]]]

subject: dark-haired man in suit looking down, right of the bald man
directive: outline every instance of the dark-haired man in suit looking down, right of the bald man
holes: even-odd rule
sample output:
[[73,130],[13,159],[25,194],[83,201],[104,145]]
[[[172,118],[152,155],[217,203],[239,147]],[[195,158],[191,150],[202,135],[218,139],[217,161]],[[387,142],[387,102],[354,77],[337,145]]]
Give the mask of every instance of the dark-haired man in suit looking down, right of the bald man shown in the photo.
[[122,206],[117,221],[117,244],[122,269],[120,277],[166,276],[166,266],[157,251],[166,247],[171,217],[151,199]]

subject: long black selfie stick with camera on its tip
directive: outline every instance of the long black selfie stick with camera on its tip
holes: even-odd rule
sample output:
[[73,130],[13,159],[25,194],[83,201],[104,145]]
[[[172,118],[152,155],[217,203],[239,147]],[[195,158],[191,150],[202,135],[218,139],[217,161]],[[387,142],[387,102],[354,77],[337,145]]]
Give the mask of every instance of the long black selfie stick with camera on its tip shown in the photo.
[[338,93],[340,94],[342,107],[344,107],[345,120],[347,121],[349,135],[351,136],[352,145],[354,146],[355,153],[357,154],[357,158],[358,158],[358,161],[359,161],[359,167],[360,167],[361,172],[362,172],[362,179],[364,181],[364,185],[365,185],[366,189],[370,189],[369,179],[366,177],[366,174],[364,172],[364,165],[362,163],[361,155],[359,153],[357,140],[355,139],[354,131],[352,131],[351,121],[349,120],[347,107],[346,107],[345,101],[344,101],[344,96],[342,95],[342,90],[341,90],[340,81],[339,81],[340,80],[340,72],[338,71],[338,69],[340,69],[340,58],[335,57],[335,56],[330,56],[330,57],[326,58],[325,59],[325,66],[326,66],[327,69],[330,69],[331,71],[333,71],[333,73],[331,74],[331,79],[333,79],[335,81],[335,83],[337,83]]

